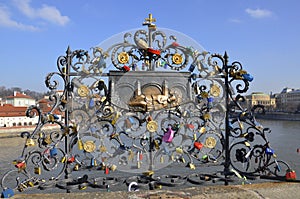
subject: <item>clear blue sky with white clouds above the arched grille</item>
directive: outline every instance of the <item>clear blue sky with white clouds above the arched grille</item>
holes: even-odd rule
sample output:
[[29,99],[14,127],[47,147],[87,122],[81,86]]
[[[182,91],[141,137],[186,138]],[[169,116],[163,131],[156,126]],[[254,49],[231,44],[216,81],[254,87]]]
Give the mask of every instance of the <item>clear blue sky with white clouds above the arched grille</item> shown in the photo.
[[0,0],[0,86],[48,91],[58,56],[112,35],[158,28],[188,35],[211,53],[227,51],[254,76],[249,92],[300,88],[299,0]]

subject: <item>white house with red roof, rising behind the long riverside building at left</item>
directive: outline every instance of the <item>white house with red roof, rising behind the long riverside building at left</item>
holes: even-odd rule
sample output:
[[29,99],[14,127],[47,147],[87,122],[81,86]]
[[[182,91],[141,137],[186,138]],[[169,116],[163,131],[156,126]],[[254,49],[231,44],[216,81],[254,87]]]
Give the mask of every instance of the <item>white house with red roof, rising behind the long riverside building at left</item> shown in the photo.
[[35,99],[25,93],[15,91],[14,95],[6,97],[6,104],[11,104],[15,107],[29,107],[35,105]]

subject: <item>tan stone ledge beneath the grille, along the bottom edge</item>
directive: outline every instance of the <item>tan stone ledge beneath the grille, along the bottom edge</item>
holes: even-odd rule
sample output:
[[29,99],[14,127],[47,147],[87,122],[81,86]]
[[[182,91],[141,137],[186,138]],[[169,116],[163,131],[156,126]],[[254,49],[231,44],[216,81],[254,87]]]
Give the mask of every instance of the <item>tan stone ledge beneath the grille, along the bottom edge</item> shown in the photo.
[[76,192],[53,194],[16,193],[12,198],[30,199],[297,199],[300,198],[300,183],[267,182],[247,185],[198,186],[178,190],[151,190],[138,192]]

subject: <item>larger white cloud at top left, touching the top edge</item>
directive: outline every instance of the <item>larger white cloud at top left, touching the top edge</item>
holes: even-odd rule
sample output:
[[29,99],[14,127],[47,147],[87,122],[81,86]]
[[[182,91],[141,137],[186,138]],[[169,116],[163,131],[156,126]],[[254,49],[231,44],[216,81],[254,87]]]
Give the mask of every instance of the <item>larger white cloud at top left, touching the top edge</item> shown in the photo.
[[29,18],[40,18],[61,26],[70,21],[69,17],[63,16],[56,7],[44,4],[41,8],[33,8],[30,5],[31,0],[14,0],[14,2],[17,8]]

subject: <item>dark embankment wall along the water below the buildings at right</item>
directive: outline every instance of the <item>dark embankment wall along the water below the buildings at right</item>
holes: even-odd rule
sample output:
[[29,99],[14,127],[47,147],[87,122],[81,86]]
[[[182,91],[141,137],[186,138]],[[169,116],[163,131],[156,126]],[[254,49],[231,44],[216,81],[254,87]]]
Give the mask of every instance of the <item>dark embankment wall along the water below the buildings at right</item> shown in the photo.
[[299,113],[266,112],[264,114],[255,114],[255,117],[266,120],[300,121]]

